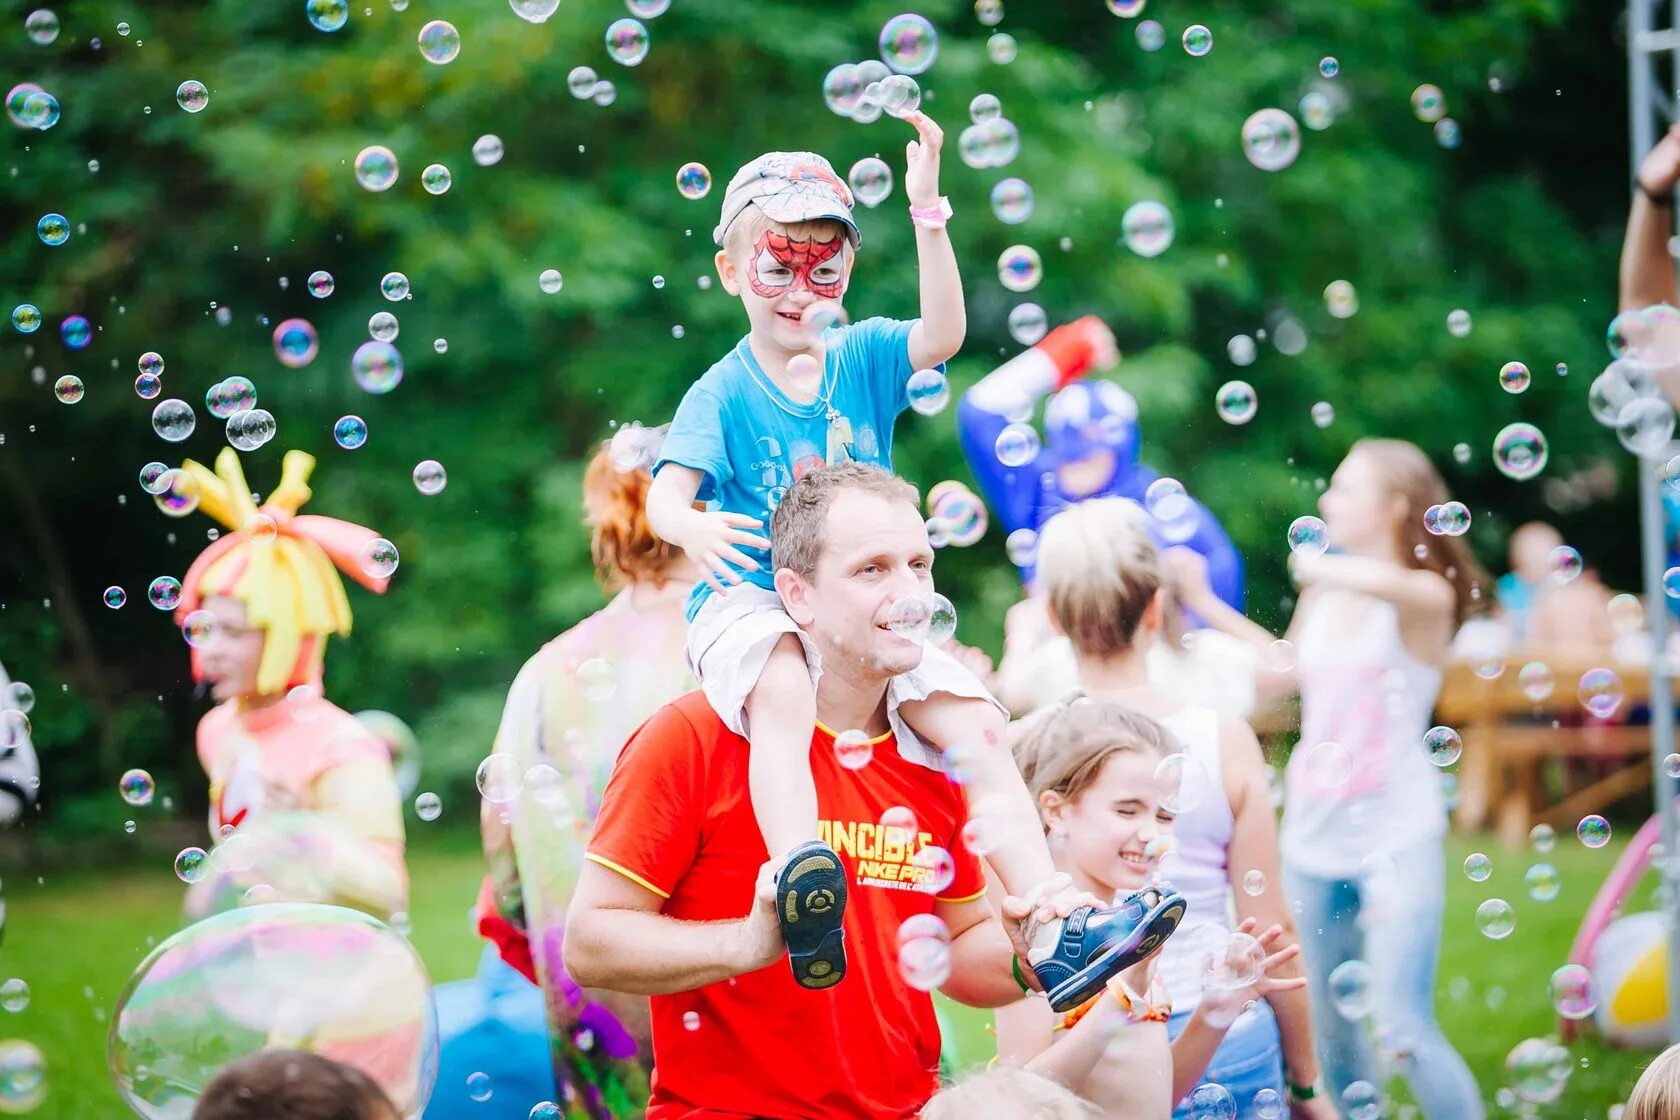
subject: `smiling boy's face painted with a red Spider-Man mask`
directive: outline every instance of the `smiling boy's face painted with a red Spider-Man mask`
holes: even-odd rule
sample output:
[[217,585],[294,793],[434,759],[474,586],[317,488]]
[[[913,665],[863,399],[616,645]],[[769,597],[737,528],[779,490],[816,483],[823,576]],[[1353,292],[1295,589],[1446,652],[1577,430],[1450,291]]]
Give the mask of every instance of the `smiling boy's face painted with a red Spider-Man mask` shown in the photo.
[[810,349],[805,311],[820,301],[840,304],[852,277],[852,247],[843,233],[788,235],[766,230],[744,252],[717,254],[724,289],[739,296],[753,332],[780,349]]

